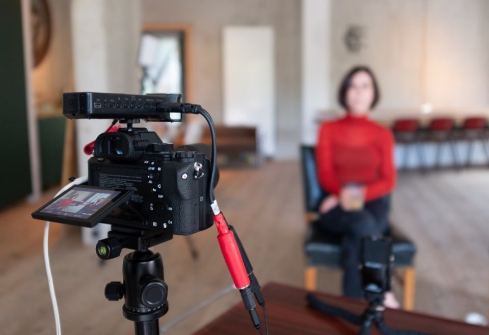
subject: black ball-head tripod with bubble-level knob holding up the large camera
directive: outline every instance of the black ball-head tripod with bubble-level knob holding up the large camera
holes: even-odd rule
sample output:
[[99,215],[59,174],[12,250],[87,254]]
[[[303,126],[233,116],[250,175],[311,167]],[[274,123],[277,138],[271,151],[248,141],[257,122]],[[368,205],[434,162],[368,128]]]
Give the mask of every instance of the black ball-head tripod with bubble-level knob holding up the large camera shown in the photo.
[[135,249],[124,257],[123,283],[108,283],[105,297],[112,301],[124,297],[122,313],[126,319],[134,322],[136,335],[158,335],[158,318],[168,312],[168,285],[164,281],[161,256],[148,247],[171,237],[146,234],[115,231],[113,227],[109,238],[98,241],[96,252],[98,257],[107,260],[118,257],[123,247]]

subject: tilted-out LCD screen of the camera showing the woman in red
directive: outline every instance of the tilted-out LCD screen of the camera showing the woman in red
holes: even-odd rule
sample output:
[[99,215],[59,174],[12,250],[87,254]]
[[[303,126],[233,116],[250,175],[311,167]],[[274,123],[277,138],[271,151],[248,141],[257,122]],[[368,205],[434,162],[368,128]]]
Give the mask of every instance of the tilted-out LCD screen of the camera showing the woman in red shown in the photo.
[[130,198],[131,191],[75,185],[51,200],[32,217],[63,224],[93,227]]

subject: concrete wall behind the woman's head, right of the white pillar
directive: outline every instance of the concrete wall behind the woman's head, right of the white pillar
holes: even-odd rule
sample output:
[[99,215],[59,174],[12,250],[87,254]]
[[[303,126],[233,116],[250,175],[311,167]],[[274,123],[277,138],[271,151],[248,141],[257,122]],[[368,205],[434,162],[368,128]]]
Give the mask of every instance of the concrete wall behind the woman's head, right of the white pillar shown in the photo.
[[[332,12],[336,85],[351,66],[366,64],[382,87],[379,108],[419,109],[424,102],[436,110],[489,106],[487,1],[343,0],[332,2]],[[344,43],[351,25],[363,31],[357,53]]]

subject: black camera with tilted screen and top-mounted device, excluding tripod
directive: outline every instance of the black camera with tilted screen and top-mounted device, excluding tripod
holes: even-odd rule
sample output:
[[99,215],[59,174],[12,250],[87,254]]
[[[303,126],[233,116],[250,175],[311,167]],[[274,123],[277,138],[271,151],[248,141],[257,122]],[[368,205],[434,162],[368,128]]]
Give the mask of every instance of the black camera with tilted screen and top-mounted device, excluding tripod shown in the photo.
[[[174,148],[155,132],[133,127],[140,118],[181,121],[182,113],[193,111],[193,105],[181,100],[181,94],[63,94],[66,117],[114,119],[113,124],[127,126],[96,138],[87,186],[72,187],[33,217],[83,227],[101,221],[112,225],[110,239],[101,241],[103,248],[97,247],[102,259],[117,257],[122,247],[150,247],[174,234],[190,235],[211,227],[208,188],[215,183],[210,185],[210,148],[203,144]],[[134,236],[138,236],[135,242]]]

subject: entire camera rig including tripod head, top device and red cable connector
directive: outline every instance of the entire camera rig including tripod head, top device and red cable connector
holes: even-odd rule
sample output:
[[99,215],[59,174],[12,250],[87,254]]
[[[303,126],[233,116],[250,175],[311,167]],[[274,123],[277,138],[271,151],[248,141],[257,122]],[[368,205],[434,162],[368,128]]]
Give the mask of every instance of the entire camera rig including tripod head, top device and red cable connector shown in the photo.
[[[211,148],[203,144],[174,148],[156,133],[133,127],[140,119],[178,122],[185,113],[205,118]],[[261,333],[254,298],[264,311],[260,285],[236,231],[228,225],[214,197],[218,170],[214,123],[209,113],[200,105],[182,103],[180,94],[83,92],[63,94],[63,114],[69,119],[113,122],[93,143],[88,178],[74,180],[71,184],[75,185],[32,216],[83,227],[110,224],[108,238],[96,245],[97,256],[103,260],[118,257],[122,248],[135,250],[124,257],[123,283],[111,282],[105,287],[108,300],[124,298],[123,314],[134,322],[135,333],[157,335],[158,318],[168,312],[161,256],[149,247],[172,239],[174,234],[194,234],[214,223],[234,285]],[[127,127],[111,132],[117,122]],[[92,149],[88,151],[92,153]],[[88,185],[78,185],[84,180]]]

